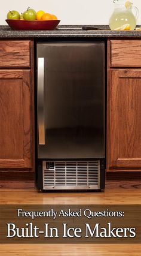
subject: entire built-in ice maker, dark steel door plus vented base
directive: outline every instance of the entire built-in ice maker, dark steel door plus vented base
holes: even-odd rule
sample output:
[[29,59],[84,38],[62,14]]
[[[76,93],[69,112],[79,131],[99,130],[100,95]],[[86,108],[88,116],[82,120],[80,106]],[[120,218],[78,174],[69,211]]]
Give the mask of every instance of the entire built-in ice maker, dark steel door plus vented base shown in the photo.
[[103,189],[105,42],[41,41],[37,61],[37,187]]

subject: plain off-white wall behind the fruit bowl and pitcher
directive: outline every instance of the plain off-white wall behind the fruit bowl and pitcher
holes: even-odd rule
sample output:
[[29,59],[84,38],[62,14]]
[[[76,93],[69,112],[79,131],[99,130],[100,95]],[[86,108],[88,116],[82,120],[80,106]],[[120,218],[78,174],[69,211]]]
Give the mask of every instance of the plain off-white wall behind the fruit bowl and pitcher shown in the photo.
[[[108,24],[112,13],[113,0],[8,0],[2,1],[0,25],[5,25],[5,19],[9,10],[23,12],[27,7],[36,11],[45,10],[54,13],[61,20],[60,24]],[[141,1],[133,0],[141,14]],[[137,21],[141,23],[141,15]]]

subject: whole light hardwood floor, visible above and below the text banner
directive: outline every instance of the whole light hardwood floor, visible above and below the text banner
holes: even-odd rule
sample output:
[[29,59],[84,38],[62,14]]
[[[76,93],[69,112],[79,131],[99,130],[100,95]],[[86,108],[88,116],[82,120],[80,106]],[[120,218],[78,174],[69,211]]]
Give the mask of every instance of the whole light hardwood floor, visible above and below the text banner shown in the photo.
[[[105,189],[105,192],[41,193],[35,189],[0,189],[0,204],[140,204],[140,188]],[[141,255],[141,245],[0,245],[2,256]]]

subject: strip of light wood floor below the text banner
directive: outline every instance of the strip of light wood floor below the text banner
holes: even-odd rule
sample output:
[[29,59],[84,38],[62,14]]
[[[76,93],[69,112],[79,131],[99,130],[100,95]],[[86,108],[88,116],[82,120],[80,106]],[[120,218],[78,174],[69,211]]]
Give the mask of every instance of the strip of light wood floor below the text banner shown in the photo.
[[0,245],[4,256],[141,255],[140,245]]

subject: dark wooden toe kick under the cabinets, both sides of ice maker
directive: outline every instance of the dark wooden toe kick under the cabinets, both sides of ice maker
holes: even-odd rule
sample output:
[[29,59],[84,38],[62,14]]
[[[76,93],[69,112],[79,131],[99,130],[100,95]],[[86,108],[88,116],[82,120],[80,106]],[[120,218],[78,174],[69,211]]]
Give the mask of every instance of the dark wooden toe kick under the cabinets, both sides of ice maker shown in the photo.
[[[107,171],[106,189],[141,188],[141,171]],[[35,187],[35,173],[30,170],[1,170],[0,189],[32,189]]]

